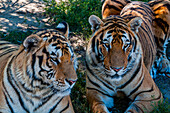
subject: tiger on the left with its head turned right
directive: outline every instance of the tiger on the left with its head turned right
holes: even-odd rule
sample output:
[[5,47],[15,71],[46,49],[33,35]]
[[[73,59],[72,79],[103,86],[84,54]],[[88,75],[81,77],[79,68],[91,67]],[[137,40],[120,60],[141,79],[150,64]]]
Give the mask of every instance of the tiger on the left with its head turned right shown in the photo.
[[74,113],[70,92],[77,80],[69,25],[41,29],[19,45],[0,41],[1,113]]

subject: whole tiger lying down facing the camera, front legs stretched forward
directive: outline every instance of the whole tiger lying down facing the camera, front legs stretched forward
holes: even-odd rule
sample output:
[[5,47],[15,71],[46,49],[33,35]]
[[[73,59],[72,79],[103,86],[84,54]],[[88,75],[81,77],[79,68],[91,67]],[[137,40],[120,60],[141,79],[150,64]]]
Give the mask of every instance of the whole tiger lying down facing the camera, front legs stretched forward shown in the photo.
[[[131,12],[131,13],[129,13]],[[149,73],[156,55],[152,10],[143,2],[120,15],[89,17],[92,36],[86,50],[86,97],[93,113],[110,113],[114,97],[128,97],[125,113],[151,112],[163,96]]]

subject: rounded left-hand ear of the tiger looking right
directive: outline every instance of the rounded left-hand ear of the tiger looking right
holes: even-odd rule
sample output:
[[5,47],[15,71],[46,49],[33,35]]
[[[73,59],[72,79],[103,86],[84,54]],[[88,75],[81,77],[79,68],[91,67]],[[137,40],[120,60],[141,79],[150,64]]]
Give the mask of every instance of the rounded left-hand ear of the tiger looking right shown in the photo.
[[26,51],[33,51],[35,50],[36,47],[38,47],[40,45],[40,42],[42,41],[42,39],[37,36],[37,35],[30,35],[28,36],[24,42],[23,42],[23,46],[25,47]]

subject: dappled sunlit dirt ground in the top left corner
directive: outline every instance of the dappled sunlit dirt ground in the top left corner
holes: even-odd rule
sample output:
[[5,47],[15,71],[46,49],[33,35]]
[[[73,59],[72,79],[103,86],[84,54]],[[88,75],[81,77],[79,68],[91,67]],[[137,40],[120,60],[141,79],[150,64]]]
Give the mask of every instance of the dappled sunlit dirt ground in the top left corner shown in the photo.
[[48,18],[43,16],[42,0],[0,0],[0,31],[26,31],[43,28]]

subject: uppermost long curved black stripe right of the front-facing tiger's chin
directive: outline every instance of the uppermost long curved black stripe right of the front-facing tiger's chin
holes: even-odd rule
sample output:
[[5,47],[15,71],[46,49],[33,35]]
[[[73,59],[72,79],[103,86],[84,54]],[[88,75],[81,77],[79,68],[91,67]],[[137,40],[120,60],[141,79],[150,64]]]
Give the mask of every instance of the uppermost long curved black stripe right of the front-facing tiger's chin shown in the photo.
[[135,70],[135,72],[133,73],[132,77],[123,85],[121,86],[118,86],[117,89],[123,89],[124,87],[126,87],[129,83],[131,83],[133,81],[133,79],[136,77],[136,75],[139,73],[140,71],[140,68],[141,68],[141,63],[142,63],[142,60],[140,59],[140,62],[137,66],[137,69]]

